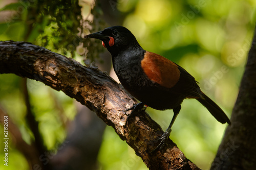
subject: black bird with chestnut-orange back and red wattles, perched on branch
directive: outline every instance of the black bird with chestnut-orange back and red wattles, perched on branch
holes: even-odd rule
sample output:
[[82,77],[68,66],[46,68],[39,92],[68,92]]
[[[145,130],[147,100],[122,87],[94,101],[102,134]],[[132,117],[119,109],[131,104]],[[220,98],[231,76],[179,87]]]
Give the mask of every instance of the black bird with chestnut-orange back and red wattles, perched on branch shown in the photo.
[[122,26],[105,28],[84,36],[102,41],[110,52],[114,71],[126,91],[140,103],[125,111],[172,109],[173,118],[154,151],[162,150],[184,99],[196,99],[222,124],[231,124],[224,111],[206,94],[184,68],[153,52],[144,50],[132,32]]

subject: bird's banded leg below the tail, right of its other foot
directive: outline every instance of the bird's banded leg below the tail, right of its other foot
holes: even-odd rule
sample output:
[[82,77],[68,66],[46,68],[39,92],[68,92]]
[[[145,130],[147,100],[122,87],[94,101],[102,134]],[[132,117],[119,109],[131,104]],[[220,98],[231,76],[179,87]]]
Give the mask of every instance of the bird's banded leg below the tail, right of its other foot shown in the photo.
[[157,151],[158,149],[159,149],[160,151],[163,149],[163,147],[164,147],[164,145],[165,145],[167,139],[168,139],[169,136],[170,136],[170,132],[172,132],[172,126],[173,126],[173,124],[174,124],[174,122],[175,122],[176,117],[178,116],[178,114],[179,114],[179,112],[180,112],[180,109],[181,109],[181,106],[178,106],[178,107],[176,107],[176,108],[173,109],[173,110],[174,110],[174,116],[173,116],[173,118],[172,118],[172,121],[170,122],[170,125],[168,126],[168,128],[166,129],[166,131],[162,134],[162,136],[161,136],[161,138],[160,138],[161,142],[158,144],[157,148],[154,149],[153,152]]

